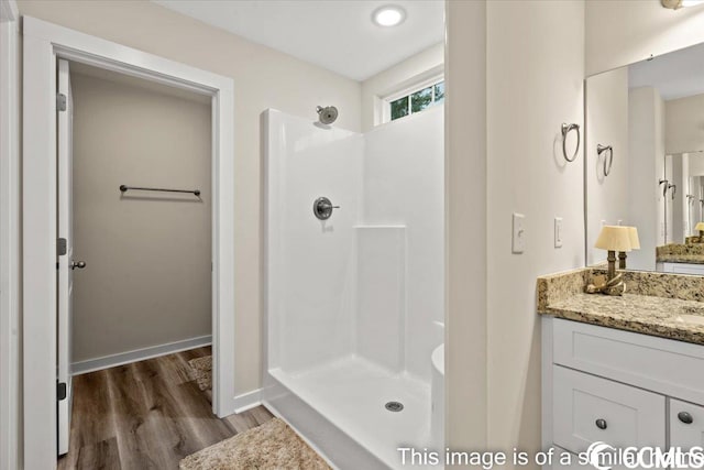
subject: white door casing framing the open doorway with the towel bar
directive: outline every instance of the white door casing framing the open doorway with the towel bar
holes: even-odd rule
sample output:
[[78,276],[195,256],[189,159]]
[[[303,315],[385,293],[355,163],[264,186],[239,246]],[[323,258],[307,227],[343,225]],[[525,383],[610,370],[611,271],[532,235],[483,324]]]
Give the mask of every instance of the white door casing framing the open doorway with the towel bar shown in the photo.
[[213,412],[234,413],[231,78],[23,17],[24,467],[56,466],[56,58],[212,97]]

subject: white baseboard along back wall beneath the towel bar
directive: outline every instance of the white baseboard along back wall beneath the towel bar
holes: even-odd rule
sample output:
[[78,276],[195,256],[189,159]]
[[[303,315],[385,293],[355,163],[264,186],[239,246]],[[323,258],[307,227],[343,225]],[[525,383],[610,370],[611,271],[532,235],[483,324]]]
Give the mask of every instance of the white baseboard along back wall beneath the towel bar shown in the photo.
[[80,375],[88,372],[100,371],[102,369],[114,368],[116,365],[129,364],[131,362],[143,361],[145,359],[158,358],[160,356],[200,348],[211,343],[212,336],[208,335],[185,339],[183,341],[167,342],[166,345],[152,346],[150,348],[135,349],[133,351],[121,352],[119,354],[103,356],[102,358],[74,362],[72,364],[72,374]]

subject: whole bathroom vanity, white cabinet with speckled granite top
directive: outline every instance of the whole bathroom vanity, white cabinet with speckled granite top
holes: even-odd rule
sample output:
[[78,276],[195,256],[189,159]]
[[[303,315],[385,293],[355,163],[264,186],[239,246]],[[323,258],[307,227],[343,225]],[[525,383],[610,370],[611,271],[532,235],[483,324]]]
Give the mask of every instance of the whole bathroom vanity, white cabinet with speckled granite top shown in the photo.
[[702,278],[628,272],[612,297],[583,293],[592,272],[538,281],[543,448],[704,446]]

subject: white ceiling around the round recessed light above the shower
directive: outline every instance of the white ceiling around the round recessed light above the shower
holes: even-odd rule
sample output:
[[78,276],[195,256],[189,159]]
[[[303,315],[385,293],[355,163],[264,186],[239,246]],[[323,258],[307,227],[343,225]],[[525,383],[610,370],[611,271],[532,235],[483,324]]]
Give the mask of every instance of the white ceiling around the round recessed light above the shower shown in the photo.
[[[364,80],[444,39],[443,0],[152,0],[301,61]],[[372,23],[400,6],[400,25]]]

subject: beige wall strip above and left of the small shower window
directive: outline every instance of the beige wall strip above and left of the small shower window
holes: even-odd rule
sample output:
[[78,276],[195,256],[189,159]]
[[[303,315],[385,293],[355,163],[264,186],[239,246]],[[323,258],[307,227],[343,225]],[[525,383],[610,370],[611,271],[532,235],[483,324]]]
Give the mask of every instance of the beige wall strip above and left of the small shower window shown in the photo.
[[382,99],[417,81],[441,75],[444,44],[436,44],[362,81],[362,132],[382,122]]

